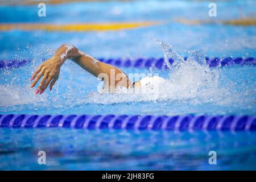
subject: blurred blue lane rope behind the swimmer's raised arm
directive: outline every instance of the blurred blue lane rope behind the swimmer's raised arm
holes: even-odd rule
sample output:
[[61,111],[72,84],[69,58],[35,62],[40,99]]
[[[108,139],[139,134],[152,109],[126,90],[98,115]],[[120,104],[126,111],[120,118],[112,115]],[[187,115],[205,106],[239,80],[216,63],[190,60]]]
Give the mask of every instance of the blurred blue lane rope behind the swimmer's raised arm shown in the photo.
[[[207,60],[207,64],[209,67],[218,67],[218,66],[230,66],[230,65],[255,65],[256,64],[256,58],[254,57],[205,57]],[[104,63],[112,64],[117,67],[135,67],[135,68],[149,68],[149,67],[155,67],[158,69],[167,69],[167,66],[164,65],[164,59],[163,58],[138,58],[138,59],[98,59]],[[184,60],[187,60],[187,57],[184,57]],[[169,59],[169,62],[172,64],[174,63],[173,59]],[[0,60],[0,69],[3,68],[19,68],[23,65],[26,65],[28,63],[31,63],[31,60],[23,59],[23,60],[9,60],[9,61],[3,61]]]

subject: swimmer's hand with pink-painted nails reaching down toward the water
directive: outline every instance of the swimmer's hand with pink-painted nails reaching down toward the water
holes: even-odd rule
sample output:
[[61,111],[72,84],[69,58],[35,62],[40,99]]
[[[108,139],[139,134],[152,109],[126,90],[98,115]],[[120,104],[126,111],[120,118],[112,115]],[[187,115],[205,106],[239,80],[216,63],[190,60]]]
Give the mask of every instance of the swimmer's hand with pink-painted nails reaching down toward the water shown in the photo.
[[60,74],[60,67],[63,64],[58,56],[53,56],[51,59],[44,61],[38,69],[35,71],[34,75],[31,77],[31,81],[34,80],[31,84],[31,88],[36,85],[36,83],[42,77],[38,89],[36,89],[36,94],[42,94],[46,90],[47,86],[50,84],[49,89],[52,90],[52,86],[55,84]]

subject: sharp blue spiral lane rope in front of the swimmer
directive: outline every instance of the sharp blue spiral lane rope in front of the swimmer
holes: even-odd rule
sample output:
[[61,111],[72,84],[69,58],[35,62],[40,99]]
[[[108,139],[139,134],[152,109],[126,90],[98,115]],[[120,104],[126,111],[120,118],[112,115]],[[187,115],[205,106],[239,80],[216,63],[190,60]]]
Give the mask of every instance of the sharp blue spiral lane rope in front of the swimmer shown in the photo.
[[256,115],[0,115],[0,127],[117,130],[256,130]]

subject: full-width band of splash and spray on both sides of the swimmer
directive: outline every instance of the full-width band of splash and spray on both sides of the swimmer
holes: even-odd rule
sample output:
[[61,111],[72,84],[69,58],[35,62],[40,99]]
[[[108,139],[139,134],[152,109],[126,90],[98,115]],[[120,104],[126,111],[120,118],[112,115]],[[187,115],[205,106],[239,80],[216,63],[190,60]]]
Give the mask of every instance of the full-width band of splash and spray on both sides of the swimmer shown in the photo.
[[[29,73],[27,68],[3,71],[0,84],[1,111],[33,111],[48,108],[53,112],[56,109],[65,112],[73,107],[85,110],[88,105],[93,104],[103,104],[108,105],[108,107],[112,107],[113,104],[121,104],[130,107],[130,105],[135,106],[138,102],[145,101],[151,102],[151,105],[156,104],[156,102],[163,102],[163,104],[179,103],[180,107],[205,104],[231,107],[234,103],[236,103],[236,107],[247,109],[254,107],[255,98],[252,98],[251,94],[255,93],[255,90],[246,89],[245,86],[245,92],[236,92],[234,89],[236,83],[226,78],[225,83],[220,84],[221,69],[210,69],[206,64],[203,52],[191,51],[191,55],[185,61],[172,49],[170,44],[158,40],[155,42],[162,48],[164,62],[170,69],[169,77],[159,85],[157,90],[153,90],[155,92],[131,94],[133,92],[130,92],[130,89],[122,88],[113,94],[98,93],[95,91],[97,84],[93,80],[94,77],[88,74],[85,79],[81,75],[86,73],[72,61],[67,61],[65,66],[61,68],[65,74],[60,74],[60,78],[54,86],[55,91],[52,93],[45,92],[38,97],[34,90],[29,89],[28,84],[30,83],[27,82],[31,72],[36,69],[34,60]],[[172,65],[169,63],[170,58],[174,59]],[[152,73],[152,68],[149,72]],[[26,75],[26,79],[22,78],[24,75]],[[93,92],[90,92],[92,90]],[[134,107],[133,113],[135,111],[137,111],[137,107]]]

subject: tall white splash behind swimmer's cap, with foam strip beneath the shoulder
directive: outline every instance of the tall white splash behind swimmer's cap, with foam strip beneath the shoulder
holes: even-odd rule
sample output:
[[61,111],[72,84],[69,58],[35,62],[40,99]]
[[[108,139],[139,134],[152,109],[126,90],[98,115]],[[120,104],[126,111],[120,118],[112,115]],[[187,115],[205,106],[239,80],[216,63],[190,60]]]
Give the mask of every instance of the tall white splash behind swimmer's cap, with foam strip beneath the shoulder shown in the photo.
[[[170,69],[166,81],[159,85],[158,97],[155,94],[130,94],[127,97],[123,90],[115,94],[92,93],[88,102],[97,104],[114,104],[119,102],[141,102],[141,101],[180,101],[193,104],[215,103],[218,105],[230,105],[240,102],[241,94],[232,93],[232,81],[226,80],[225,85],[219,85],[220,69],[210,69],[206,63],[205,55],[201,51],[191,51],[187,61],[183,59],[170,44],[153,39],[159,44],[164,52],[164,62]],[[174,59],[170,64],[169,59]],[[251,102],[251,101],[248,101]],[[239,104],[238,104],[239,105]]]

